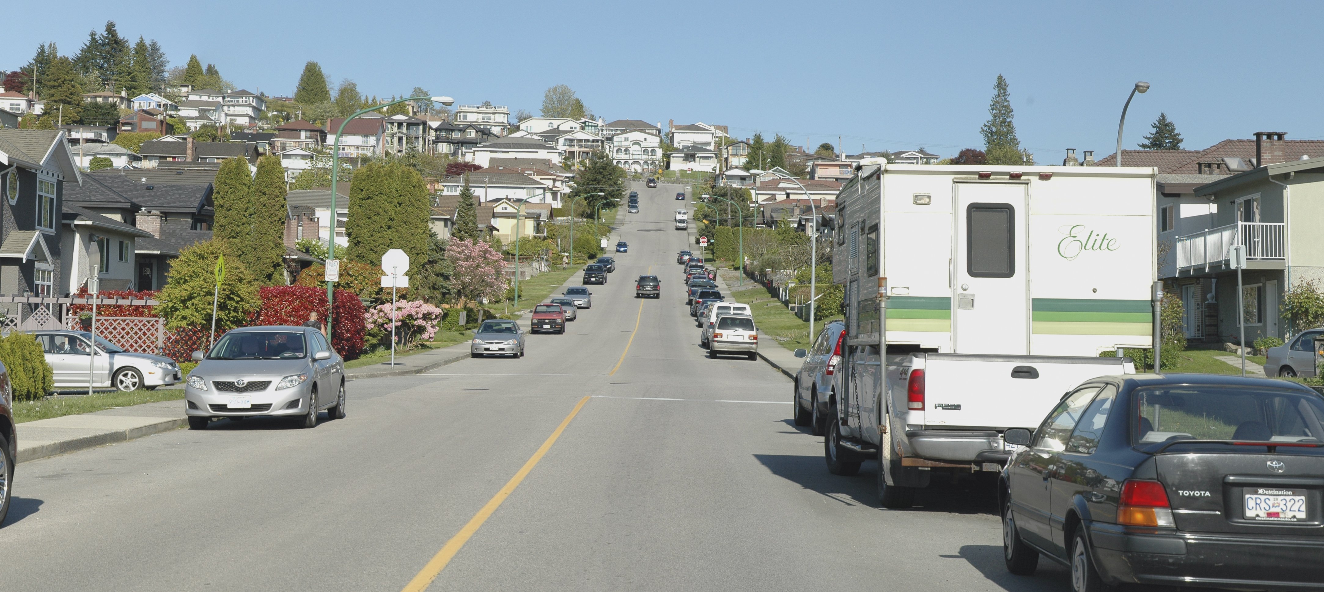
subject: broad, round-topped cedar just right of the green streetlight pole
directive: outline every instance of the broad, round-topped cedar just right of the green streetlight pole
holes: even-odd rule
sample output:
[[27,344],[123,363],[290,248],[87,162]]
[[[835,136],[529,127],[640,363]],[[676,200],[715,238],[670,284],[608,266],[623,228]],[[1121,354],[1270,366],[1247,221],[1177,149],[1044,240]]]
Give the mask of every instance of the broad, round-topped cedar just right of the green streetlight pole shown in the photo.
[[428,185],[418,171],[400,163],[364,164],[350,188],[346,258],[380,265],[387,250],[401,249],[412,275],[428,260]]

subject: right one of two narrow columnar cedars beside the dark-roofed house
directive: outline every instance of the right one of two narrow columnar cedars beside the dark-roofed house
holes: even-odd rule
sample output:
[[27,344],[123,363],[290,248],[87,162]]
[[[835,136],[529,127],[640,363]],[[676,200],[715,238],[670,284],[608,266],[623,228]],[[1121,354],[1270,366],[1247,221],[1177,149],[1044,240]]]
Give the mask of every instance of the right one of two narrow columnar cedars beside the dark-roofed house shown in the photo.
[[[242,159],[232,159],[242,160]],[[253,234],[240,256],[257,281],[285,285],[285,170],[281,158],[266,155],[253,175]]]

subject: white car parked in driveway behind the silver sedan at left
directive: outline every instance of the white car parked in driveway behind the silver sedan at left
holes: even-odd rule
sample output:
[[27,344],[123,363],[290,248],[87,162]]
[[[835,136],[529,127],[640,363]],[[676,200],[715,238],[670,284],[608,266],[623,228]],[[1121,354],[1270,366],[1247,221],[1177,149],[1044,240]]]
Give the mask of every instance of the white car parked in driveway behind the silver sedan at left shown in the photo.
[[[46,363],[53,372],[56,391],[87,388],[87,352],[90,332],[36,331],[33,334]],[[154,389],[183,380],[175,360],[126,351],[102,336],[97,336],[97,355],[93,356],[93,385],[115,387],[119,391]]]

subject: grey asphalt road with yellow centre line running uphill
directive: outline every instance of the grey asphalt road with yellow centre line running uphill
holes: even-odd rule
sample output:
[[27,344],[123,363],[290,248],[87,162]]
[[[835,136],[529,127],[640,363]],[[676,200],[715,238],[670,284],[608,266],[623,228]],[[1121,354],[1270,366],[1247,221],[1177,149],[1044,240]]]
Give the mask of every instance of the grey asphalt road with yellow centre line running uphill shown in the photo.
[[[884,511],[873,464],[830,475],[788,379],[698,347],[679,187],[637,189],[592,310],[523,359],[350,383],[348,417],[312,430],[217,421],[19,465],[0,589],[404,589],[585,396],[430,589],[1068,588],[1046,562],[1006,573],[988,491]],[[633,298],[643,273],[661,299]]]

